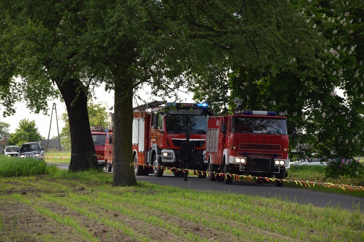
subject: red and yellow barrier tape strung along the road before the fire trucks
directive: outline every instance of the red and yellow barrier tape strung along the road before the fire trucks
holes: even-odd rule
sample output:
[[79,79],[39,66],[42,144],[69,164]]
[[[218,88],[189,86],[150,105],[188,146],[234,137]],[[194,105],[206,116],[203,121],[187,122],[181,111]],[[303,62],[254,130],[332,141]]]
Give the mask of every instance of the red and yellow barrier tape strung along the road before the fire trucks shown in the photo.
[[[152,167],[154,168],[154,166],[152,165],[145,165],[145,164],[137,164],[138,166],[143,166],[143,169],[145,168],[149,168]],[[135,163],[131,163],[130,166],[135,166]],[[197,175],[202,174],[202,173],[206,173],[207,176],[210,175],[209,171],[198,171],[198,170],[193,170],[193,169],[183,169],[183,168],[177,168],[177,167],[165,167],[165,166],[157,166],[158,169],[163,169],[163,170],[170,170],[173,171],[173,169],[177,170],[177,171],[182,171],[183,173],[188,171],[188,172],[196,172]],[[217,178],[218,176],[221,177],[227,177],[227,176],[232,176],[232,179],[234,179],[235,181],[240,181],[241,178],[243,178],[244,180],[247,179],[248,181],[251,180],[259,180],[259,181],[284,181],[284,182],[295,182],[297,185],[300,184],[301,186],[306,186],[306,187],[314,187],[315,185],[319,186],[322,185],[324,187],[328,187],[328,188],[333,188],[333,189],[342,189],[344,191],[351,191],[351,192],[362,192],[364,191],[364,186],[355,186],[355,185],[347,185],[347,184],[336,184],[336,183],[331,183],[331,182],[319,182],[319,181],[298,181],[298,180],[288,180],[288,179],[277,179],[277,178],[267,178],[267,177],[254,177],[254,176],[246,176],[246,175],[235,175],[235,174],[229,174],[229,173],[217,173],[214,172],[215,174],[215,178]]]

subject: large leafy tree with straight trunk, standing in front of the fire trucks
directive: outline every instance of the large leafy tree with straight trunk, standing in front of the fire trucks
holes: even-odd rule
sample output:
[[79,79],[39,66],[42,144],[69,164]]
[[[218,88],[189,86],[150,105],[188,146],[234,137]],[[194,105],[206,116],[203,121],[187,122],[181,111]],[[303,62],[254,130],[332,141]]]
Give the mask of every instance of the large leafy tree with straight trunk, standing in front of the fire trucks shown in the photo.
[[144,83],[158,95],[194,87],[196,78],[200,88],[222,96],[216,88],[223,82],[211,77],[226,76],[232,65],[295,70],[296,54],[314,60],[316,37],[285,0],[102,0],[89,6],[79,43],[83,61],[115,90],[114,185],[136,182],[129,152],[132,97]]

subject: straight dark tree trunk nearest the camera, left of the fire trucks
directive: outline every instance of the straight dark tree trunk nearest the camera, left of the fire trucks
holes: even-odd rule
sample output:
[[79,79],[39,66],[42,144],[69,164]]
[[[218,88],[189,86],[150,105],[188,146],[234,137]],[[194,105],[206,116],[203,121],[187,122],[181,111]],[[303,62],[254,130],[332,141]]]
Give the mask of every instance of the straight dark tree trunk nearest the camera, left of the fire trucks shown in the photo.
[[136,185],[132,160],[132,87],[131,81],[115,83],[114,106],[114,186]]

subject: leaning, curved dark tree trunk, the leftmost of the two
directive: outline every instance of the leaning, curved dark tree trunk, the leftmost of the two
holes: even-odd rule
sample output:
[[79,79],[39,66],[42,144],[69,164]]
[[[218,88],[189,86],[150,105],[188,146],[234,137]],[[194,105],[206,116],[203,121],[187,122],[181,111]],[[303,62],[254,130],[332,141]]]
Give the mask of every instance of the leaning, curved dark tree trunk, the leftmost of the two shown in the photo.
[[[97,168],[98,160],[87,113],[87,94],[84,91],[76,91],[82,85],[77,80],[70,79],[62,84],[56,83],[65,100],[69,120],[71,135],[69,171],[79,172]],[[74,101],[76,98],[77,100]]]

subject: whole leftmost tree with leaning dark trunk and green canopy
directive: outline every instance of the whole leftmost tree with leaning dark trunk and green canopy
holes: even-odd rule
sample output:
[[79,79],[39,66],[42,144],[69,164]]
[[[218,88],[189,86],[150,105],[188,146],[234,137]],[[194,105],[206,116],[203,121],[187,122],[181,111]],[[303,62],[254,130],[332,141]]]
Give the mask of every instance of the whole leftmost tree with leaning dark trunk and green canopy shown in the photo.
[[13,105],[19,100],[36,113],[46,112],[48,98],[58,89],[70,122],[70,171],[98,166],[87,114],[88,75],[77,64],[75,43],[85,28],[86,19],[76,14],[84,4],[74,0],[0,3],[0,102],[7,107],[4,114],[14,113]]

